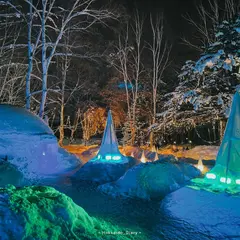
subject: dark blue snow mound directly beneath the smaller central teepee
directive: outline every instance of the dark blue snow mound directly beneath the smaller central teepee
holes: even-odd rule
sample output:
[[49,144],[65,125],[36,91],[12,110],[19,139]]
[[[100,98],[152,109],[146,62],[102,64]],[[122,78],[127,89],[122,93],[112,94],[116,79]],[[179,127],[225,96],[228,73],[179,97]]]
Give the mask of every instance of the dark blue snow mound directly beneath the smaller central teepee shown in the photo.
[[123,176],[136,163],[137,160],[132,157],[124,157],[121,161],[92,159],[73,175],[73,179],[98,184],[113,182]]

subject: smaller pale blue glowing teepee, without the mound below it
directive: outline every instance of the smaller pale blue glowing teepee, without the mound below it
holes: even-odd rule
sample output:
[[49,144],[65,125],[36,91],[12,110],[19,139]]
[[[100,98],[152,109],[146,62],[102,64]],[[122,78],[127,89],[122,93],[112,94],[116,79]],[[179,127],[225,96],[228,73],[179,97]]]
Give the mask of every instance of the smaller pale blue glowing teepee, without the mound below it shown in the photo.
[[112,114],[108,112],[107,124],[104,130],[101,146],[99,148],[97,159],[118,161],[124,157],[118,149],[118,140],[115,134]]

